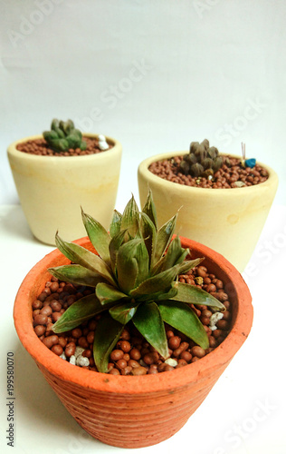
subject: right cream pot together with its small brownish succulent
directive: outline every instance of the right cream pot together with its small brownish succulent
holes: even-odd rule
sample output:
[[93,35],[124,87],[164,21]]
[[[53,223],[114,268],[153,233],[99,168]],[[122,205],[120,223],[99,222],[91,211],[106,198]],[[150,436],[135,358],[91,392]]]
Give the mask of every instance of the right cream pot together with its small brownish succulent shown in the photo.
[[[262,178],[262,183],[247,185],[234,181],[225,189],[224,183],[213,183],[213,178],[221,172],[220,165],[224,170],[227,159],[242,162],[240,156],[219,154],[215,147],[209,147],[207,140],[191,143],[189,153],[157,154],[139,164],[138,188],[141,204],[148,188],[152,190],[159,225],[167,221],[171,212],[179,210],[176,232],[222,253],[243,271],[272,206],[278,176],[269,166],[257,163],[268,175]],[[168,173],[167,179],[163,179],[150,172],[150,166],[169,161],[180,163],[181,178],[193,178],[195,182],[179,184],[175,178],[173,183],[168,181],[171,180]]]

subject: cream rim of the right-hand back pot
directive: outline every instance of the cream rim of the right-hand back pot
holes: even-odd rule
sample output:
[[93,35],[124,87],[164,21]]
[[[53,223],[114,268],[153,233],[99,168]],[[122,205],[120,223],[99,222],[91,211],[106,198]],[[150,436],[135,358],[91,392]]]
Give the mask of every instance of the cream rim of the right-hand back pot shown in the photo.
[[[267,172],[269,173],[268,179],[259,184],[255,184],[253,186],[246,186],[243,188],[200,188],[200,187],[194,187],[194,186],[186,186],[185,184],[179,184],[179,183],[174,183],[174,182],[168,182],[164,178],[161,178],[154,173],[150,172],[148,170],[148,167],[151,163],[156,163],[157,161],[162,161],[165,159],[169,159],[175,156],[181,156],[188,153],[187,151],[183,152],[168,152],[168,153],[159,153],[153,156],[148,157],[138,165],[138,175],[144,175],[145,178],[153,183],[154,185],[161,185],[163,188],[166,189],[166,191],[173,191],[173,192],[181,192],[184,193],[185,195],[192,193],[199,194],[202,193],[204,190],[204,194],[207,195],[207,197],[225,197],[225,196],[231,196],[235,197],[236,196],[241,196],[242,193],[245,194],[247,192],[252,192],[253,194],[257,192],[261,192],[262,190],[265,191],[268,187],[272,187],[272,185],[278,185],[278,175],[277,173],[269,166],[264,163],[259,163],[262,167],[264,167]],[[239,158],[241,159],[241,156],[237,154],[227,154],[228,156],[231,156],[233,158]]]

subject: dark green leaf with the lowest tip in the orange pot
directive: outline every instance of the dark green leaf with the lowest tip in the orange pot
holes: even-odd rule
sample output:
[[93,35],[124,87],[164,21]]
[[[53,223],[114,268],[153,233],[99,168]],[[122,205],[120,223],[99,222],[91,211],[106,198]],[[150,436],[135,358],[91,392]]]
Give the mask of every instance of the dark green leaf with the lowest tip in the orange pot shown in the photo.
[[[101,306],[102,307],[102,306]],[[99,372],[107,372],[110,353],[119,341],[124,325],[104,314],[100,317],[94,332],[93,358]]]

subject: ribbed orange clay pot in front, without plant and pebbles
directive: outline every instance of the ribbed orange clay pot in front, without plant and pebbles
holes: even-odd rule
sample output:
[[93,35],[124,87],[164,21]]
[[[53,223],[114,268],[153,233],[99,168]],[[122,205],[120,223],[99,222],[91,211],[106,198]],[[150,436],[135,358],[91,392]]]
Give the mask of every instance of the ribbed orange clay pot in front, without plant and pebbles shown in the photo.
[[[253,322],[251,294],[234,266],[217,252],[181,238],[192,256],[224,281],[233,305],[233,328],[205,356],[181,369],[145,376],[113,376],[71,365],[48,350],[33,331],[32,302],[51,276],[47,269],[66,264],[59,251],[46,255],[24,279],[14,303],[15,328],[63,405],[92,437],[121,448],[141,448],[168,439],[181,429],[205,400]],[[88,238],[77,241],[91,251]]]

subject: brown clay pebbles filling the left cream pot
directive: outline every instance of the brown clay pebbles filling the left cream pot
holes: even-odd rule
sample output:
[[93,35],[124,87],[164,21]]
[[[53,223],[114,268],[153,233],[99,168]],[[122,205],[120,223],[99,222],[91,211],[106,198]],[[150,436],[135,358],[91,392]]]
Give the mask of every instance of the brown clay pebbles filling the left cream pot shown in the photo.
[[35,154],[38,156],[84,156],[88,154],[102,153],[112,148],[112,145],[106,142],[103,135],[99,135],[98,138],[91,138],[83,136],[84,141],[87,143],[86,150],[76,148],[75,150],[70,149],[68,152],[55,152],[49,148],[48,144],[44,139],[33,139],[28,140],[24,143],[18,143],[16,149],[19,152]]

